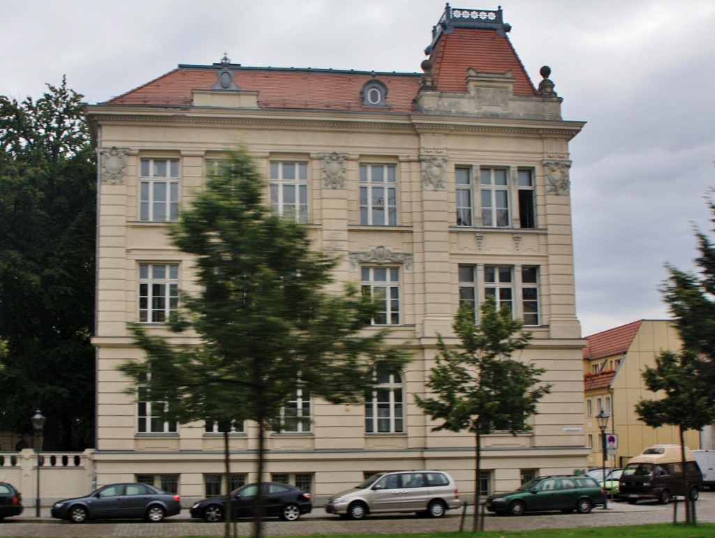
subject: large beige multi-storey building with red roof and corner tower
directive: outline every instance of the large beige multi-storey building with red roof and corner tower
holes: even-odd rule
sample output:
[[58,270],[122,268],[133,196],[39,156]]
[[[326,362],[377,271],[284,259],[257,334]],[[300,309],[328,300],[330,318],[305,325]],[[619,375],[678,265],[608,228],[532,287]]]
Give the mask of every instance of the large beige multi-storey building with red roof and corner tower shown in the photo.
[[[225,58],[88,106],[100,165],[98,485],[152,482],[184,499],[218,492],[215,425],[162,422],[156,402],[126,394],[117,367],[143,359],[128,322],[163,334],[178,290],[196,291],[167,223],[237,144],[266,178],[266,203],[305,222],[315,249],[340,256],[337,282],[384,297],[375,324],[414,351],[364,405],[297,393],[286,409],[302,420],[270,435],[264,479],[320,502],[371,472],[444,469],[473,492],[473,437],[433,432],[414,396],[425,395],[437,334],[456,343],[460,302],[477,307],[487,295],[524,320],[533,342],[516,358],[545,368],[553,388],[532,432],[485,440],[481,489],[585,467],[568,153],[583,123],[562,119],[548,69],[533,86],[506,31],[501,10],[448,6],[421,74]],[[234,484],[255,480],[255,425],[235,424],[230,443]]]

